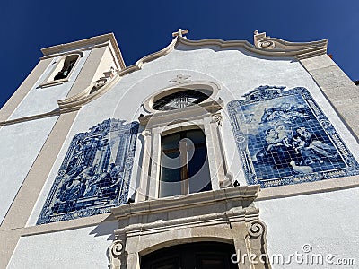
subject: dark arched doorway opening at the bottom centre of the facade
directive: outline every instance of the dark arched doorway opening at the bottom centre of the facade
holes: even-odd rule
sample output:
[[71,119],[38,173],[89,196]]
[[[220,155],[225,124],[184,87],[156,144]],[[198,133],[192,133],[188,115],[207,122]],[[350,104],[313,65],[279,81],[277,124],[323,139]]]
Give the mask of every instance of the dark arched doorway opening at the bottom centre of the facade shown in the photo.
[[197,242],[165,247],[141,258],[141,269],[234,269],[234,246],[219,242]]

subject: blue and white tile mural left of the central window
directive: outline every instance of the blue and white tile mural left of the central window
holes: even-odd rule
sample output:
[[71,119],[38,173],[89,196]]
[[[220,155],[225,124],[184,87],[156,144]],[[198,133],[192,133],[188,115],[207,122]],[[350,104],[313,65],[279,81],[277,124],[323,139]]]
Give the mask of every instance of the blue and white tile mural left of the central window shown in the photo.
[[74,136],[38,224],[108,213],[127,204],[138,123],[107,119]]

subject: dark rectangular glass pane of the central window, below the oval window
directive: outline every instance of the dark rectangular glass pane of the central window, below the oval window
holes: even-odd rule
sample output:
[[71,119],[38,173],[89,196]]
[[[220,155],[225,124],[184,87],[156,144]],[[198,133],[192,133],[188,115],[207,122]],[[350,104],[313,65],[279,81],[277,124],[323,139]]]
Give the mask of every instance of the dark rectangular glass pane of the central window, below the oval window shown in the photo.
[[159,196],[211,189],[204,132],[193,129],[162,136]]

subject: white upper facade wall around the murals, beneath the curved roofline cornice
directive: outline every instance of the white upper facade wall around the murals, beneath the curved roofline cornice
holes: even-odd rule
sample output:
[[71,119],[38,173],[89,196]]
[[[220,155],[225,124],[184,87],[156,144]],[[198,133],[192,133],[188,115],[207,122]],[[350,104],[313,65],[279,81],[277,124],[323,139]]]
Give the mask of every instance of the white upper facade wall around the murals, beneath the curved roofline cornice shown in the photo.
[[[216,82],[221,90],[215,96],[215,100],[221,97],[225,106],[229,101],[241,99],[243,94],[260,85],[286,86],[288,89],[305,87],[336,127],[337,132],[345,138],[346,144],[355,153],[355,157],[358,157],[359,147],[354,137],[337,117],[334,109],[330,107],[328,100],[324,98],[310,74],[298,61],[293,58],[255,56],[242,48],[221,51],[216,47],[191,49],[180,45],[170,54],[144,64],[141,70],[125,75],[113,89],[80,110],[48,181],[53,181],[56,177],[68,145],[75,134],[87,132],[89,127],[110,117],[127,120],[127,122],[138,120],[140,113],[146,114],[141,108],[144,100],[154,92],[170,86],[172,83],[169,81],[177,74],[190,75],[191,81]],[[233,146],[235,142],[226,108],[223,108],[223,116],[221,129],[230,171],[241,185],[246,185],[241,172],[239,155],[236,147]],[[137,141],[136,164],[138,164],[141,148],[142,144]],[[133,188],[136,186],[136,178],[138,178],[138,170],[135,166],[131,182]],[[43,195],[48,194],[50,187],[51,184],[44,187]],[[134,191],[133,188],[131,192]],[[35,211],[39,215],[40,209],[37,208]]]

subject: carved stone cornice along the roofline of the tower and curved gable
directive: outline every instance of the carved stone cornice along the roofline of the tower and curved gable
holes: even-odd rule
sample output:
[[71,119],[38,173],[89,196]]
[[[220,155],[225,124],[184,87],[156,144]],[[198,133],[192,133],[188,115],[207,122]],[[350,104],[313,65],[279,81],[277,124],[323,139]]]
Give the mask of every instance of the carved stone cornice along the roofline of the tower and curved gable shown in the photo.
[[[313,42],[305,42],[305,43],[295,43],[288,42],[282,39],[273,39],[270,37],[266,37],[266,33],[258,34],[255,32],[255,46],[250,44],[248,41],[243,40],[233,40],[233,41],[223,41],[221,39],[203,39],[203,40],[188,40],[182,37],[176,37],[172,39],[171,43],[166,47],[162,48],[153,54],[148,56],[144,56],[139,59],[135,65],[129,65],[125,67],[123,62],[121,53],[118,48],[117,41],[115,36],[112,33],[101,35],[98,37],[93,37],[91,39],[83,39],[79,41],[74,41],[67,44],[61,44],[54,47],[42,48],[44,56],[48,56],[51,54],[58,54],[59,52],[64,52],[65,50],[78,49],[88,46],[103,46],[104,42],[109,42],[109,46],[116,51],[116,56],[121,65],[121,70],[118,70],[115,77],[108,82],[106,87],[102,87],[99,91],[96,91],[94,94],[90,92],[90,88],[84,89],[78,95],[72,97],[68,100],[59,100],[59,108],[60,109],[75,109],[81,108],[83,104],[86,104],[92,100],[97,99],[106,91],[109,91],[110,86],[116,84],[119,79],[127,74],[140,70],[145,63],[151,62],[161,56],[165,56],[169,54],[172,50],[174,50],[179,44],[186,45],[188,47],[201,47],[201,46],[217,46],[219,48],[244,48],[247,51],[257,54],[258,56],[274,56],[274,57],[294,57],[297,59],[303,59],[311,56],[318,56],[321,54],[327,53],[327,40],[313,41]],[[267,42],[267,43],[266,43]],[[111,50],[112,51],[112,50]],[[192,108],[189,108],[192,109]],[[189,112],[189,110],[188,110]],[[169,112],[167,112],[168,114]],[[177,113],[177,112],[174,112]],[[157,115],[157,114],[156,114]],[[158,114],[158,116],[161,116]],[[147,117],[143,118],[143,121]],[[0,123],[1,125],[2,123]]]

